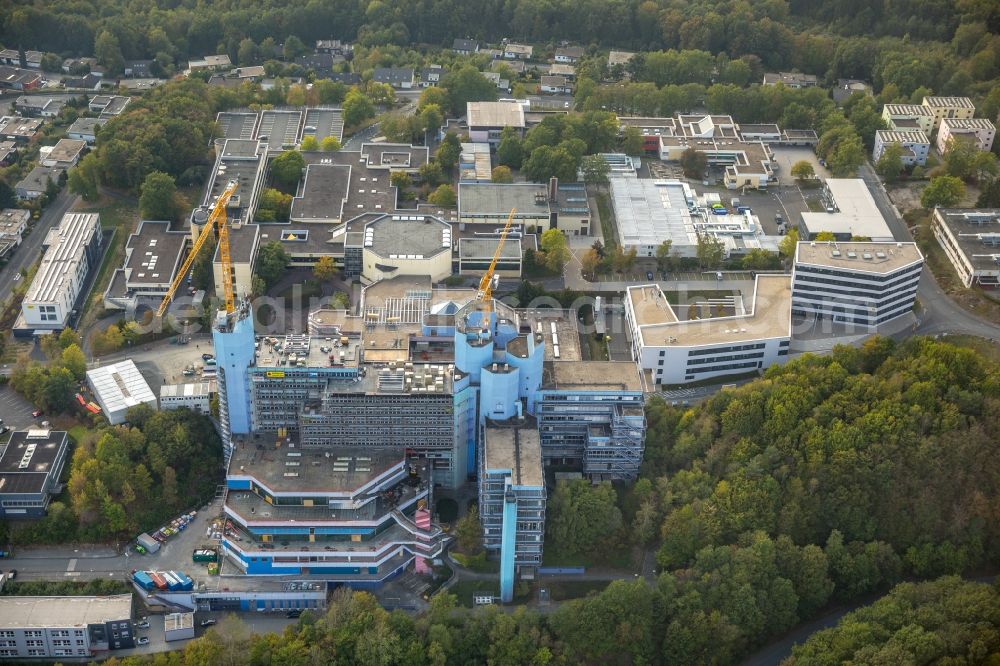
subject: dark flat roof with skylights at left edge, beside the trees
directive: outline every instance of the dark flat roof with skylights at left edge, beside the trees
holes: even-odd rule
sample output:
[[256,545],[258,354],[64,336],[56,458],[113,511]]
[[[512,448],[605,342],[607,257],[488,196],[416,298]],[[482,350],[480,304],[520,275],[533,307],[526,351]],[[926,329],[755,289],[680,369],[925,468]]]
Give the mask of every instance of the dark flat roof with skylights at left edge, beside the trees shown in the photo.
[[43,492],[49,475],[59,471],[53,465],[66,445],[66,433],[62,430],[37,428],[12,432],[0,452],[0,495]]

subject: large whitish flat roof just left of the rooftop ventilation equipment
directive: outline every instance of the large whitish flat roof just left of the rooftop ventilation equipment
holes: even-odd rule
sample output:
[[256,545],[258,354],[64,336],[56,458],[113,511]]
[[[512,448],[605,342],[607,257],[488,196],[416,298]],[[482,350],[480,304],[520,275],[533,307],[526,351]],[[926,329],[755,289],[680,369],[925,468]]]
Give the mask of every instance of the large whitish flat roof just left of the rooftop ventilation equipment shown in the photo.
[[623,246],[697,245],[685,187],[677,181],[612,178],[611,203]]

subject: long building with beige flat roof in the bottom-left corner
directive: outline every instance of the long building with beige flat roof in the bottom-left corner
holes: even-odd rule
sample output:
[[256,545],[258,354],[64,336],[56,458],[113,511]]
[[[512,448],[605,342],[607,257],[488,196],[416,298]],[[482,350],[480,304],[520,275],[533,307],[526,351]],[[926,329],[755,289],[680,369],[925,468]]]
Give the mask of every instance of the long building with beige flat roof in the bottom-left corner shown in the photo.
[[0,658],[94,657],[135,647],[132,595],[0,597]]

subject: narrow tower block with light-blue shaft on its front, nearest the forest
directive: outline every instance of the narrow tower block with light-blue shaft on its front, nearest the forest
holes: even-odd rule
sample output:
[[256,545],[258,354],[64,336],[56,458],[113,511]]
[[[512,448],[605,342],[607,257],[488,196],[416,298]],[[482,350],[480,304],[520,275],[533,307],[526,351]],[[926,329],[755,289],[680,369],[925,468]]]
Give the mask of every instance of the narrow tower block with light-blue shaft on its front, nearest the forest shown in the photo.
[[545,478],[538,430],[530,420],[487,421],[479,461],[483,546],[500,558],[500,600],[514,579],[532,579],[545,542]]

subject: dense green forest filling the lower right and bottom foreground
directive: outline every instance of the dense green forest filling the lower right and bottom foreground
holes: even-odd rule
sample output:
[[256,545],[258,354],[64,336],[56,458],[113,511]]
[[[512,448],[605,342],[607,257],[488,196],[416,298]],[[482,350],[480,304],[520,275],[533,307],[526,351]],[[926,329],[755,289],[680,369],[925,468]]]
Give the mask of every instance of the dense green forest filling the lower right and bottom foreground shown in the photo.
[[[602,520],[606,539],[660,544],[654,584],[616,581],[544,615],[463,610],[443,593],[413,617],[340,590],[280,636],[233,620],[183,653],[117,663],[735,663],[832,601],[995,562],[998,407],[1000,367],[930,339],[797,359],[694,409],[650,406],[642,478]],[[556,529],[589,504],[584,486],[553,499]],[[997,659],[997,613],[987,586],[903,585],[795,663]]]

